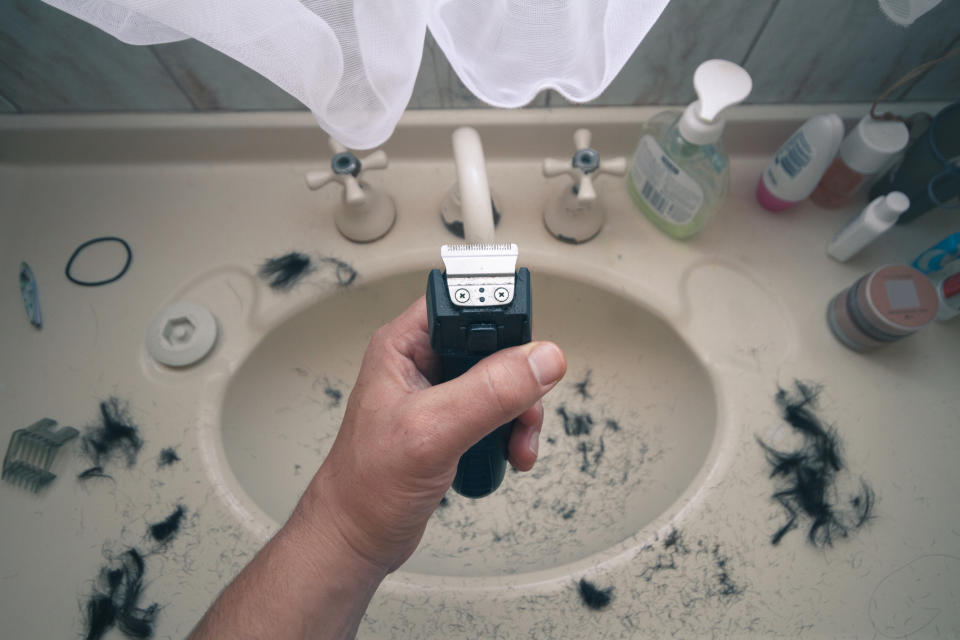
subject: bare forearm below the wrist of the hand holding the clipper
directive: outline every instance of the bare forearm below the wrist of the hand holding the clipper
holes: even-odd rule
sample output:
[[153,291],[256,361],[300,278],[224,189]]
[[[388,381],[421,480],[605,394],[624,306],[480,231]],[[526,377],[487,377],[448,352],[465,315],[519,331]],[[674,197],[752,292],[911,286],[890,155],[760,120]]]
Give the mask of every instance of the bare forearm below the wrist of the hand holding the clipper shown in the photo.
[[384,575],[301,504],[190,638],[352,638]]

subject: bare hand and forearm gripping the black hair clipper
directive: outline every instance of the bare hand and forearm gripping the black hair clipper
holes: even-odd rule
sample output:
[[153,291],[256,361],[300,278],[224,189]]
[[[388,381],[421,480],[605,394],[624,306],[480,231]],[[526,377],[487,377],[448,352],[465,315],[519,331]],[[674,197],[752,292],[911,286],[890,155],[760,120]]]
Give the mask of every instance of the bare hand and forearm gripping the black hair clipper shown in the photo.
[[505,349],[434,386],[429,338],[424,298],[376,332],[323,465],[194,640],[352,637],[380,582],[416,549],[464,451],[516,419],[510,461],[533,466],[539,400],[566,370],[560,349]]

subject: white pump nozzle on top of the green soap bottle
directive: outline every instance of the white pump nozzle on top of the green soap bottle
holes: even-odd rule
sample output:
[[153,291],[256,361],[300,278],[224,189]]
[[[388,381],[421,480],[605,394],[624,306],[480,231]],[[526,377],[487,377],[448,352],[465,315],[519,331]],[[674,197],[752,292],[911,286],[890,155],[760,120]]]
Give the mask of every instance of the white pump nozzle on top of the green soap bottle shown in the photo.
[[723,134],[727,107],[743,102],[753,88],[746,69],[729,60],[707,60],[693,74],[697,100],[687,105],[680,118],[680,135],[690,144],[713,144]]

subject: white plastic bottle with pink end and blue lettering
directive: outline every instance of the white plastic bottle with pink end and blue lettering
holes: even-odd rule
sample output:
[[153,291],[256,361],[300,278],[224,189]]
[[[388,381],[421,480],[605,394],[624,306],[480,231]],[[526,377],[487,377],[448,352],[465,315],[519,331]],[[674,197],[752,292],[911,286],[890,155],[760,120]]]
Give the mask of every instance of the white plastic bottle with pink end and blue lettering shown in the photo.
[[843,120],[835,113],[814,116],[777,149],[757,181],[757,202],[784,211],[806,200],[843,142]]

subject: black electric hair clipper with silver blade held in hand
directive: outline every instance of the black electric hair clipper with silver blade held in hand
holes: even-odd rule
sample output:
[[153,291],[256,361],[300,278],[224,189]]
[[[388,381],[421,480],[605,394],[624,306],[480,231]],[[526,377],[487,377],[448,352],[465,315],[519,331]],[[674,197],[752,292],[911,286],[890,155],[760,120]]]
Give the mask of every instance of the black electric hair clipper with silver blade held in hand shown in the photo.
[[[427,279],[430,346],[444,381],[500,349],[530,342],[530,271],[517,270],[515,244],[443,245],[445,272]],[[493,493],[507,470],[513,423],[470,447],[457,464],[453,489],[468,498]]]

